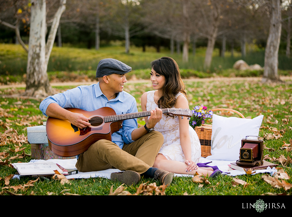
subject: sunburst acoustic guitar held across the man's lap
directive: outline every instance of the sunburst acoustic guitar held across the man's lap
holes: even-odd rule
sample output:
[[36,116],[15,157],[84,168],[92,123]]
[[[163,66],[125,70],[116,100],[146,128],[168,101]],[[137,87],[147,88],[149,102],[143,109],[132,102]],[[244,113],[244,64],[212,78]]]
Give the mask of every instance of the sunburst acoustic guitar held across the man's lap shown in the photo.
[[[86,151],[93,143],[100,139],[112,141],[112,134],[123,127],[123,121],[138,117],[150,116],[150,111],[134,112],[116,115],[109,107],[102,107],[95,111],[85,111],[77,108],[66,108],[75,113],[88,117],[90,126],[80,129],[67,120],[48,117],[46,132],[51,151],[61,157],[71,157]],[[163,114],[171,113],[174,116],[191,117],[189,109],[166,108]]]

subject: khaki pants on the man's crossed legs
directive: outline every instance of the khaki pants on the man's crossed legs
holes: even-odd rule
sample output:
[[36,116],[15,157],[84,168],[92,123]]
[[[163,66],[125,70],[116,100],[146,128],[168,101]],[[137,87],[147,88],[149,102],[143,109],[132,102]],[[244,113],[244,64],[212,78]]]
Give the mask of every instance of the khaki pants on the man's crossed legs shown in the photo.
[[121,149],[115,143],[101,139],[80,154],[76,168],[80,172],[117,168],[141,174],[153,166],[163,140],[161,133],[152,131],[130,144],[124,144]]

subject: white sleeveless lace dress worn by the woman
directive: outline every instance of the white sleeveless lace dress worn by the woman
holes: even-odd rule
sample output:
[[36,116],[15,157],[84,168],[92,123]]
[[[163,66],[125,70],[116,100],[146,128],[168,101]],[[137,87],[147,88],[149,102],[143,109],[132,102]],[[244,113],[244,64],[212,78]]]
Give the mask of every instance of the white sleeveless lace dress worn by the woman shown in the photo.
[[[158,105],[154,102],[154,92],[155,90],[147,92],[147,111],[158,107]],[[176,97],[181,94],[182,93],[179,93]],[[173,117],[162,115],[160,122],[155,125],[154,129],[161,132],[164,136],[164,143],[161,146],[159,153],[163,154],[168,160],[185,162],[185,155],[182,147],[180,146],[179,118],[180,117],[174,119]],[[192,161],[198,163],[199,158],[201,157],[201,144],[197,133],[191,126],[189,126],[189,133],[192,147]]]

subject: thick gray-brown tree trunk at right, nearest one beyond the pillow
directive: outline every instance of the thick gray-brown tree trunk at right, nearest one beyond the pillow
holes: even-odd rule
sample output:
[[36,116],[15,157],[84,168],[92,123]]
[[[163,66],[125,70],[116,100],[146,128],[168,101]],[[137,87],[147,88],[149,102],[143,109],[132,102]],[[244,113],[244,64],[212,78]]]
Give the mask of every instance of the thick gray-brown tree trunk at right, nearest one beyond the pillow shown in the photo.
[[270,30],[265,50],[265,68],[262,82],[280,80],[278,75],[278,52],[281,27],[281,0],[271,0]]

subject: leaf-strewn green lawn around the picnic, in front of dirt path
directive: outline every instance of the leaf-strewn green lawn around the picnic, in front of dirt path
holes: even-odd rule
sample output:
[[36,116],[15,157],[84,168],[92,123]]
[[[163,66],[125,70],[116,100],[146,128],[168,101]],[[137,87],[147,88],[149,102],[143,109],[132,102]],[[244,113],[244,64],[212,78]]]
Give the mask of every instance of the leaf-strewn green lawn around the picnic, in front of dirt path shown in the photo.
[[[286,83],[275,84],[263,84],[257,81],[251,80],[213,80],[205,82],[191,82],[185,81],[188,98],[190,101],[190,108],[195,105],[205,105],[208,109],[226,107],[240,111],[245,117],[253,118],[260,114],[264,115],[263,127],[276,127],[277,130],[282,130],[283,137],[279,139],[264,140],[264,144],[268,148],[274,148],[275,151],[269,152],[264,150],[264,155],[269,154],[270,157],[278,158],[280,155],[288,156],[291,158],[291,152],[281,150],[280,147],[285,143],[289,143],[289,139],[292,138],[292,81],[287,80]],[[58,87],[61,92],[72,87]],[[125,85],[125,91],[131,93],[136,99],[137,104],[140,105],[140,97],[142,93],[152,90],[149,83],[129,83]],[[3,94],[15,94],[23,93],[24,89],[9,88],[0,89],[0,95]],[[282,101],[281,101],[282,100]],[[5,125],[15,129],[18,135],[24,134],[27,136],[26,128],[28,126],[40,125],[41,121],[46,120],[46,117],[39,111],[39,103],[41,100],[25,99],[25,98],[0,98],[0,131],[3,133],[7,130]],[[285,102],[285,103],[284,103]],[[138,106],[138,110],[141,111],[141,106]],[[216,112],[216,114],[223,116],[237,116],[227,112]],[[275,122],[277,124],[270,124],[269,122]],[[287,119],[288,122],[285,122]],[[138,120],[140,124],[143,124],[143,119]],[[21,123],[28,122],[26,125]],[[21,126],[22,125],[22,126]],[[289,128],[290,127],[290,128]],[[260,136],[264,137],[265,134],[272,133],[270,129],[261,128]],[[3,138],[3,136],[2,136]],[[10,137],[8,137],[10,139]],[[24,142],[22,147],[27,147],[25,153],[30,154],[30,144]],[[16,156],[17,153],[12,152],[8,148],[15,148],[14,143],[7,142],[4,144],[1,142],[0,152],[8,152],[10,156]],[[20,154],[20,153],[18,153]],[[5,161],[5,159],[1,159]],[[10,160],[9,163],[29,162],[31,157]],[[280,164],[278,161],[274,163]],[[283,167],[280,164],[280,167]],[[287,174],[291,177],[291,163],[283,167]],[[15,174],[16,170],[6,165],[0,165],[0,177],[4,177]],[[278,189],[272,187],[267,182],[261,179],[259,175],[242,175],[237,178],[244,180],[248,183],[246,187],[243,185],[232,186],[232,178],[229,176],[216,179],[209,179],[211,184],[204,184],[203,187],[199,187],[198,183],[192,182],[190,177],[175,177],[173,183],[165,191],[166,195],[261,195],[267,193],[285,193],[291,194],[292,189],[285,191],[283,188]],[[8,186],[16,186],[26,184],[29,180],[36,180],[32,177],[21,177],[19,180],[10,180]],[[142,179],[136,186],[127,187],[127,191],[131,193],[136,192],[136,187],[139,184],[148,181],[149,179]],[[149,180],[152,182],[152,180]],[[60,181],[41,179],[34,183],[34,186],[29,187],[26,191],[15,191],[18,194],[29,195],[33,192],[34,195],[48,195],[53,192],[53,195],[61,195],[61,191],[69,189],[69,193],[81,194],[81,195],[108,195],[110,187],[114,185],[114,190],[120,185],[120,183],[114,183],[107,179],[102,178],[89,178],[89,179],[75,179],[71,180],[71,185],[60,184]],[[288,183],[292,183],[291,178],[286,180]],[[158,183],[157,183],[158,185]],[[0,182],[0,186],[5,187],[4,181]],[[14,192],[12,189],[10,191]],[[64,193],[64,192],[63,192]],[[4,193],[6,195],[7,193]]]

